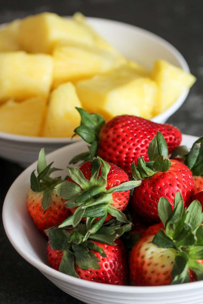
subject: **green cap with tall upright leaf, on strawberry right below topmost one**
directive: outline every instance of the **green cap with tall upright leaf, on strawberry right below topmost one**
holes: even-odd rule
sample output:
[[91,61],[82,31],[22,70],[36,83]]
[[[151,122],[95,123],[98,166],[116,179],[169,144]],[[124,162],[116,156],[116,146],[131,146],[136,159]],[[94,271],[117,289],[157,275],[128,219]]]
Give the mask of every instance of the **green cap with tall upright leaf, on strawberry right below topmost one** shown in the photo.
[[138,157],[137,165],[131,164],[132,176],[135,180],[145,179],[156,172],[166,172],[170,169],[171,161],[168,159],[168,147],[161,132],[157,131],[149,143],[149,161],[145,162],[143,157]]

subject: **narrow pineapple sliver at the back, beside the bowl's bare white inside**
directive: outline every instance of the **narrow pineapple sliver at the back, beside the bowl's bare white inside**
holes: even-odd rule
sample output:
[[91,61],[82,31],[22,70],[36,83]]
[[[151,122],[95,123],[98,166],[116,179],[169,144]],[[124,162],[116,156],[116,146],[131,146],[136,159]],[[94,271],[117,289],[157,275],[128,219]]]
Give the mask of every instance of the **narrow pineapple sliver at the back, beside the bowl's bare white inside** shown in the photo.
[[96,43],[96,47],[106,50],[108,52],[111,52],[113,54],[119,54],[117,50],[115,50],[106,40],[104,40],[96,31],[87,24],[86,17],[80,13],[77,12],[73,15],[73,20],[79,24],[81,24],[89,33],[93,36],[94,41]]

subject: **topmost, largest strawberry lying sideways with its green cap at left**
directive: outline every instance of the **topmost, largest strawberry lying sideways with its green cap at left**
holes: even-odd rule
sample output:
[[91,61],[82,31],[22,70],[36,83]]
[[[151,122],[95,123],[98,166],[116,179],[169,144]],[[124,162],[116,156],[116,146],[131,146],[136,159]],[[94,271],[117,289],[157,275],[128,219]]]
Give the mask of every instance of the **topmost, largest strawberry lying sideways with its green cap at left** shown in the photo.
[[167,124],[153,123],[137,116],[116,116],[105,124],[102,116],[89,114],[87,111],[76,108],[81,115],[81,126],[74,132],[87,143],[90,143],[90,152],[74,157],[71,163],[81,160],[90,160],[95,155],[105,161],[116,164],[128,175],[131,175],[131,163],[139,156],[148,161],[147,148],[156,131],[162,132],[169,152],[180,145],[181,133],[178,129]]

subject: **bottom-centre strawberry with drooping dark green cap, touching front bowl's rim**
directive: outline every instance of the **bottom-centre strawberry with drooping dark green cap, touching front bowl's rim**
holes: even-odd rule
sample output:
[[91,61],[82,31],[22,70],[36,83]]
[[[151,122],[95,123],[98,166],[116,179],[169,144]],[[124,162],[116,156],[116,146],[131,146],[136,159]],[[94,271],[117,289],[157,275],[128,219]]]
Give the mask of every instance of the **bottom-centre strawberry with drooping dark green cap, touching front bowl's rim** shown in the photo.
[[[110,239],[105,234],[101,236],[100,232],[103,233],[105,229],[110,233]],[[71,233],[65,229],[50,229],[50,240],[47,244],[49,264],[55,270],[87,281],[127,285],[126,249],[120,239],[115,239],[121,236],[124,228],[122,232],[119,230],[122,227],[118,226],[116,229],[104,226],[98,235],[91,236],[94,240],[83,239],[86,234],[85,224],[71,229]],[[103,241],[99,241],[100,238]]]

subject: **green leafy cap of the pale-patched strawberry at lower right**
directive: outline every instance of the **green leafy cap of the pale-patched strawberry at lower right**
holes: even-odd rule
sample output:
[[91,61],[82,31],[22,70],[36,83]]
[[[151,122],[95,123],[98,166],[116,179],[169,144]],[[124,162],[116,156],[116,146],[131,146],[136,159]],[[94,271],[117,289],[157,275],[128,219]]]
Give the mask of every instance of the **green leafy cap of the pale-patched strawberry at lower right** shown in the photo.
[[184,209],[183,198],[177,192],[174,209],[165,197],[159,199],[158,214],[164,230],[159,230],[152,243],[160,248],[170,248],[175,253],[171,284],[189,282],[188,268],[201,277],[202,264],[195,261],[203,260],[203,213],[200,202],[194,200]]

